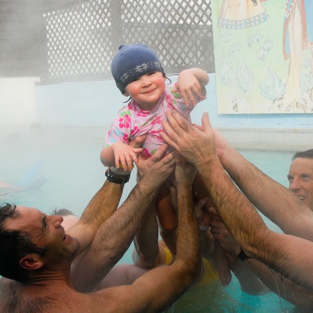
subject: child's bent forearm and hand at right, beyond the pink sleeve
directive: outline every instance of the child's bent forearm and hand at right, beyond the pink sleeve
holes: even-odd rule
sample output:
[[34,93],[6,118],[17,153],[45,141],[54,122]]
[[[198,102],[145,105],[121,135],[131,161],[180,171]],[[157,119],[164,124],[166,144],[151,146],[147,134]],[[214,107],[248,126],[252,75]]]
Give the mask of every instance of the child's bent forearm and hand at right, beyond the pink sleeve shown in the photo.
[[186,106],[189,106],[190,102],[195,106],[195,96],[201,99],[203,88],[208,82],[208,74],[201,68],[193,67],[179,73],[176,89],[180,91]]

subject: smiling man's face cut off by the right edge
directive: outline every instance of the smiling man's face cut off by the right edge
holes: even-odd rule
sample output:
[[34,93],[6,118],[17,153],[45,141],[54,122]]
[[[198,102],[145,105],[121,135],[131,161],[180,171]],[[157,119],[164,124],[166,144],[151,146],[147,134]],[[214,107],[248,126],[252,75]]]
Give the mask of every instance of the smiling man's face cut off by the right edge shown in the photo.
[[313,159],[295,158],[287,177],[289,189],[313,211]]

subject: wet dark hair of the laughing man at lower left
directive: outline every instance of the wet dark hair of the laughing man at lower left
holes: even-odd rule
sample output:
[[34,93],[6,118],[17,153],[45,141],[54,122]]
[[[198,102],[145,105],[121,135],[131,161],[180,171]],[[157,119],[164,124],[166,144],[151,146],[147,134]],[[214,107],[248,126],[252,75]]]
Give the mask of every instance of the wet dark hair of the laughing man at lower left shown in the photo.
[[8,218],[16,218],[20,213],[15,204],[0,204],[0,275],[20,282],[25,281],[28,271],[19,264],[20,260],[29,253],[45,255],[46,248],[34,245],[30,234],[20,230],[7,230],[4,222]]

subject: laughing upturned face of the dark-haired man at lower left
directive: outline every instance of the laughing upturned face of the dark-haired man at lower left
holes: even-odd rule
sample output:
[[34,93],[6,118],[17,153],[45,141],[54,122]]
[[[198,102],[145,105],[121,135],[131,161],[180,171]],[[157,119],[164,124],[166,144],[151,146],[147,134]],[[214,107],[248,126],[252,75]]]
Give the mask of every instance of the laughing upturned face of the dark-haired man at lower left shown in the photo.
[[[79,248],[76,238],[66,234],[61,226],[63,218],[59,215],[45,215],[30,207],[17,206],[20,214],[5,221],[4,227],[11,230],[22,230],[30,235],[33,244],[47,248],[45,258],[72,259]],[[61,261],[61,260],[60,260]]]

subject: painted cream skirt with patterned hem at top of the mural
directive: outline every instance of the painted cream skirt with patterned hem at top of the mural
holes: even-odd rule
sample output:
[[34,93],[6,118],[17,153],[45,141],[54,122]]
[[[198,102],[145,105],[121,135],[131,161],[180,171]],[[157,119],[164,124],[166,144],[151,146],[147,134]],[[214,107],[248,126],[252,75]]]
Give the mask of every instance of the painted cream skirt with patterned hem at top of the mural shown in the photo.
[[243,29],[268,20],[261,0],[224,0],[218,26],[227,29]]

